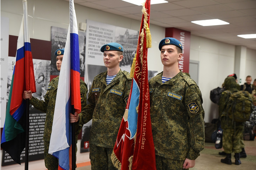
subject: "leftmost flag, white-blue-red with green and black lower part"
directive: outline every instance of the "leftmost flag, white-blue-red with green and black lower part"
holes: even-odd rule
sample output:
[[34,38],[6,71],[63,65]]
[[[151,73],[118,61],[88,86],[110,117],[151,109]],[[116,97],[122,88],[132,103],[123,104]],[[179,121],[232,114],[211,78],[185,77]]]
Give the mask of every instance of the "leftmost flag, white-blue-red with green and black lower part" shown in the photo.
[[23,100],[22,93],[25,90],[31,90],[32,93],[36,92],[28,31],[27,1],[23,1],[23,12],[5,125],[1,138],[1,147],[19,164],[20,154],[25,148],[26,142],[26,101]]

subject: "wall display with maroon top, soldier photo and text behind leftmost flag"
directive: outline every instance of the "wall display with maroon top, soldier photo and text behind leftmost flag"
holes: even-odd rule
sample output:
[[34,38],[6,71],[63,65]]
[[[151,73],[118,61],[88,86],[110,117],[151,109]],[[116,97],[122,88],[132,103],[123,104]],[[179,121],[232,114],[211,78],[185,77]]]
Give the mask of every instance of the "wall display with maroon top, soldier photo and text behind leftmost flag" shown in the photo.
[[[13,68],[15,65],[15,55],[17,48],[17,39],[18,36],[9,36],[9,47],[6,50],[8,54],[8,63],[6,64],[6,73],[7,76],[7,97],[4,108],[8,103],[8,97],[12,82]],[[41,48],[44,47],[44,50]],[[33,96],[43,100],[47,92],[48,84],[50,82],[50,42],[38,39],[31,38],[31,51],[33,57],[33,66],[34,66],[34,75],[36,82],[36,91]],[[11,56],[11,57],[10,57]],[[2,66],[1,66],[2,67]],[[2,85],[2,82],[1,82]],[[5,112],[1,111],[1,119],[5,116]],[[45,127],[45,117],[46,113],[41,112],[35,109],[31,104],[29,105],[29,161],[41,160],[44,158],[44,141],[43,141],[43,131]],[[2,121],[2,120],[1,120]],[[5,119],[3,119],[3,122]],[[1,125],[4,126],[4,123],[1,122]],[[2,128],[1,128],[2,131]],[[25,149],[21,154],[21,162],[25,162]],[[5,150],[2,150],[2,164],[1,166],[16,164],[12,158],[9,156]]]

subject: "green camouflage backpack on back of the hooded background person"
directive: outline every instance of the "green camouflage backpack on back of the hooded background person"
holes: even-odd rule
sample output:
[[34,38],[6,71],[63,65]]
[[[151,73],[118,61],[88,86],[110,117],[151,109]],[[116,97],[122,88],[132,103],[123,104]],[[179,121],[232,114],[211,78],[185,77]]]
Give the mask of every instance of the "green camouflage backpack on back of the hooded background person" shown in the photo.
[[236,91],[228,99],[226,111],[233,121],[245,122],[253,111],[252,97],[248,91]]

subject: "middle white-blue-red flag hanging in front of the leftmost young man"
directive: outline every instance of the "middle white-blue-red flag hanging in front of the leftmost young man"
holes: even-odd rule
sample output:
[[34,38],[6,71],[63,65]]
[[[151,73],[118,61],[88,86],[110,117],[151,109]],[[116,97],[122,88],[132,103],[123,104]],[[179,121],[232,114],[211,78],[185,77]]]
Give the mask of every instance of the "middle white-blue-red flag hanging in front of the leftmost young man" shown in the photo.
[[69,123],[71,105],[74,105],[76,112],[81,112],[79,41],[73,0],[69,1],[69,14],[70,23],[61,64],[48,151],[49,154],[59,159],[59,167],[65,170],[71,167],[72,160],[69,156],[69,150],[72,148],[70,147],[72,144],[72,126]]

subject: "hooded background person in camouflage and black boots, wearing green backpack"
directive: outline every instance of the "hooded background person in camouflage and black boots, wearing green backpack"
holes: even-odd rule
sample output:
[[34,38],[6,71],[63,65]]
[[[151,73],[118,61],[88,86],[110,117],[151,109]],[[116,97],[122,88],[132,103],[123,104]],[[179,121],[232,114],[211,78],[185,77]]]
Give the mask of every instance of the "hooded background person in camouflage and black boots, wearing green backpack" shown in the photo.
[[[221,162],[226,164],[232,164],[231,153],[234,152],[235,164],[239,165],[241,164],[240,152],[242,151],[241,136],[243,135],[244,122],[249,118],[249,116],[247,119],[244,118],[245,120],[242,120],[242,118],[240,117],[240,113],[233,112],[236,107],[247,108],[240,106],[240,103],[233,104],[234,102],[231,102],[232,100],[230,96],[233,96],[234,94],[236,94],[236,92],[238,92],[237,83],[233,76],[229,76],[225,79],[224,88],[225,91],[222,92],[219,102],[219,114],[221,117],[221,127],[223,129],[223,149],[226,153],[226,157],[224,159],[221,159]],[[248,98],[250,99],[251,104],[252,100],[250,94]],[[249,109],[250,115],[251,106],[249,106]],[[242,117],[244,117],[244,113],[242,111],[239,112],[241,112],[241,115],[243,115]]]

